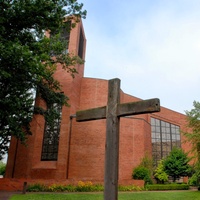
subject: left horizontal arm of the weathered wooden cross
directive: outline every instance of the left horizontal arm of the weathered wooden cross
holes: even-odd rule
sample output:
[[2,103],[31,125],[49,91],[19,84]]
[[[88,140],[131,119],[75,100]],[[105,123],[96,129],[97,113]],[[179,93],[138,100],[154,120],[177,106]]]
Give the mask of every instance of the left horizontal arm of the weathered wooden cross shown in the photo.
[[76,112],[76,121],[91,121],[106,118],[106,106],[99,108],[92,108],[88,110],[81,110]]

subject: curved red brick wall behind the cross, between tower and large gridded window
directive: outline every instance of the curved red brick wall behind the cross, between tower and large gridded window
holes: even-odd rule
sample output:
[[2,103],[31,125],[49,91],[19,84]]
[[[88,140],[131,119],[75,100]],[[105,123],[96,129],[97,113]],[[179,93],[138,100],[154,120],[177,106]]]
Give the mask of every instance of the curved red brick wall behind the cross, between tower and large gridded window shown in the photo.
[[[88,109],[107,104],[108,81],[83,78],[81,85],[80,108]],[[136,101],[121,92],[121,101]],[[151,147],[150,125],[145,116],[120,119],[119,179],[131,179],[133,167],[137,166],[145,151]],[[98,179],[104,177],[105,120],[73,122],[73,135],[70,147],[69,178]],[[146,132],[146,135],[143,133]],[[145,143],[150,143],[149,146]]]

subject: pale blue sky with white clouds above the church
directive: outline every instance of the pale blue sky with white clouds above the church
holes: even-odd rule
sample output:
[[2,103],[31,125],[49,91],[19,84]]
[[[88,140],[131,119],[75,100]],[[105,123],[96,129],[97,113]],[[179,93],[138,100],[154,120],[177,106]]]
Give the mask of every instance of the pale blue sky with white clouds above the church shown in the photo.
[[200,0],[79,0],[85,77],[121,80],[123,92],[159,98],[185,114],[200,101]]

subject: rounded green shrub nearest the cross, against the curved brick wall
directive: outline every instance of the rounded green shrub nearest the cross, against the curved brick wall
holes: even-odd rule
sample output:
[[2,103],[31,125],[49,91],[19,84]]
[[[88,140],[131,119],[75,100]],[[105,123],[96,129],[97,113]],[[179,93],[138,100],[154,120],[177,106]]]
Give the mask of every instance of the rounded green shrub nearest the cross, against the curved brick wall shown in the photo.
[[143,166],[138,166],[133,170],[133,179],[144,180],[145,184],[152,184],[151,173],[149,169]]

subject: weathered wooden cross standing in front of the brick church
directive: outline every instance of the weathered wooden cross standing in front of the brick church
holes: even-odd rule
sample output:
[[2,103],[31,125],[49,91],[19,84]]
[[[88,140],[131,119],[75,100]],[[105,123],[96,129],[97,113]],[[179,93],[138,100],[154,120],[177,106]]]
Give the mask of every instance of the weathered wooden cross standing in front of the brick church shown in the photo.
[[104,200],[118,199],[120,117],[160,111],[159,99],[120,104],[120,79],[108,82],[107,106],[78,111],[76,121],[106,119]]

